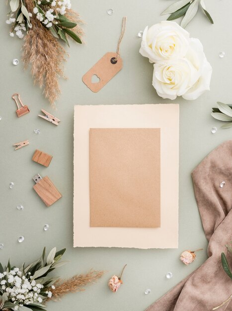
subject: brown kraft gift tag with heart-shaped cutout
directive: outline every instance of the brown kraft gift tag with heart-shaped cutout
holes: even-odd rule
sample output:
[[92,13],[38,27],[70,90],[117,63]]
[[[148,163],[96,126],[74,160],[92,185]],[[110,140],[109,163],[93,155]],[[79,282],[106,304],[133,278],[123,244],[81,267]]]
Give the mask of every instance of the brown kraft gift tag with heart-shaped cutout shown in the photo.
[[106,53],[83,77],[82,81],[93,92],[98,92],[109,82],[121,69],[122,59],[117,53]]

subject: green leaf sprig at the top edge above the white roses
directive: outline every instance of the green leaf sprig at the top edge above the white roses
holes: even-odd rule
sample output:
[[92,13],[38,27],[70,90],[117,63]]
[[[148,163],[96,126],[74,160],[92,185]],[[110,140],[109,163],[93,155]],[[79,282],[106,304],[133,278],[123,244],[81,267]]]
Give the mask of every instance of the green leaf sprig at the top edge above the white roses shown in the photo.
[[185,28],[187,24],[193,19],[198,11],[199,5],[203,9],[206,17],[213,24],[214,21],[210,13],[206,10],[204,0],[179,0],[168,6],[161,15],[170,14],[167,20],[174,20],[184,15],[180,26]]

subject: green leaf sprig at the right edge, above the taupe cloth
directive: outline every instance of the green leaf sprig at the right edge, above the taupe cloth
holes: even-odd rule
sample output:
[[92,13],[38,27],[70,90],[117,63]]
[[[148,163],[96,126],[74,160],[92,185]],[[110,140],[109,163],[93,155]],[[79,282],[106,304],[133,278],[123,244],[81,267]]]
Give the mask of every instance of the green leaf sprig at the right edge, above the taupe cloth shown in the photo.
[[229,129],[232,127],[232,105],[224,104],[220,101],[217,102],[218,107],[212,108],[212,117],[217,120],[225,121],[226,124],[222,125],[223,129]]

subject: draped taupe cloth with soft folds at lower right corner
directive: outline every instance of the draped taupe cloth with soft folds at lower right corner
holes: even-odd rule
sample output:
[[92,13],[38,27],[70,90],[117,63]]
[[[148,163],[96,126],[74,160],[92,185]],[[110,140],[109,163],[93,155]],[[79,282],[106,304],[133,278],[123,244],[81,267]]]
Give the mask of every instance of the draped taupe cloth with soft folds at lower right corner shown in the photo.
[[[192,178],[209,258],[146,311],[210,311],[232,295],[232,280],[221,264],[225,252],[232,267],[225,246],[232,241],[232,140],[206,156]],[[232,311],[232,301],[219,309],[225,310]]]

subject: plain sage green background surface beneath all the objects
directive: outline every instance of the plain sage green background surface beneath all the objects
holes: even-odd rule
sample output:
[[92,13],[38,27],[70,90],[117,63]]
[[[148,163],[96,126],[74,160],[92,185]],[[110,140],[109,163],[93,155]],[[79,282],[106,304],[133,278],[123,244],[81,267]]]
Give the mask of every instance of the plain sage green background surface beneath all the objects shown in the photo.
[[[211,91],[195,101],[182,98],[173,101],[180,104],[179,248],[149,250],[73,248],[74,105],[170,102],[159,98],[152,86],[153,66],[139,54],[141,39],[137,34],[145,26],[163,20],[165,16],[160,16],[160,12],[173,1],[73,0],[73,8],[86,22],[85,44],[71,43],[67,48],[70,57],[65,64],[65,74],[69,79],[60,79],[62,95],[56,111],[44,99],[42,91],[33,86],[31,74],[23,71],[22,63],[12,65],[13,58],[20,59],[23,41],[9,37],[9,26],[5,24],[7,7],[5,1],[1,2],[0,242],[4,248],[0,250],[0,261],[6,263],[10,257],[12,263],[20,265],[39,257],[45,245],[48,249],[67,247],[64,259],[70,263],[57,270],[58,275],[69,277],[90,268],[106,270],[106,273],[85,292],[67,295],[59,303],[49,303],[48,311],[143,311],[207,259],[207,240],[190,173],[211,150],[232,137],[232,129],[220,129],[221,122],[210,115],[217,100],[232,103],[231,0],[206,0],[215,24],[211,25],[199,12],[186,28],[192,37],[201,40],[213,66]],[[107,15],[108,8],[114,9],[113,15]],[[81,77],[106,52],[116,50],[124,15],[128,18],[121,45],[124,67],[101,91],[93,93]],[[220,51],[226,52],[224,59],[219,58]],[[21,118],[17,118],[11,99],[14,92],[20,93],[31,110]],[[41,108],[60,118],[60,125],[56,127],[37,117]],[[214,135],[213,126],[219,129]],[[40,129],[40,135],[34,134],[35,128]],[[14,151],[12,144],[25,139],[30,145]],[[53,156],[48,168],[31,160],[35,149]],[[32,189],[32,176],[38,172],[48,175],[63,194],[50,208],[45,207]],[[15,183],[12,190],[8,187],[11,181]],[[16,209],[18,204],[24,206],[23,211]],[[50,227],[44,232],[46,223]],[[20,235],[25,237],[23,243],[17,241]],[[190,266],[179,261],[181,251],[200,247],[204,250],[197,253],[196,261]],[[124,284],[114,294],[108,289],[107,281],[113,274],[119,274],[125,263],[128,266]],[[173,278],[167,280],[165,274],[169,271]],[[152,292],[145,295],[148,288]]]

